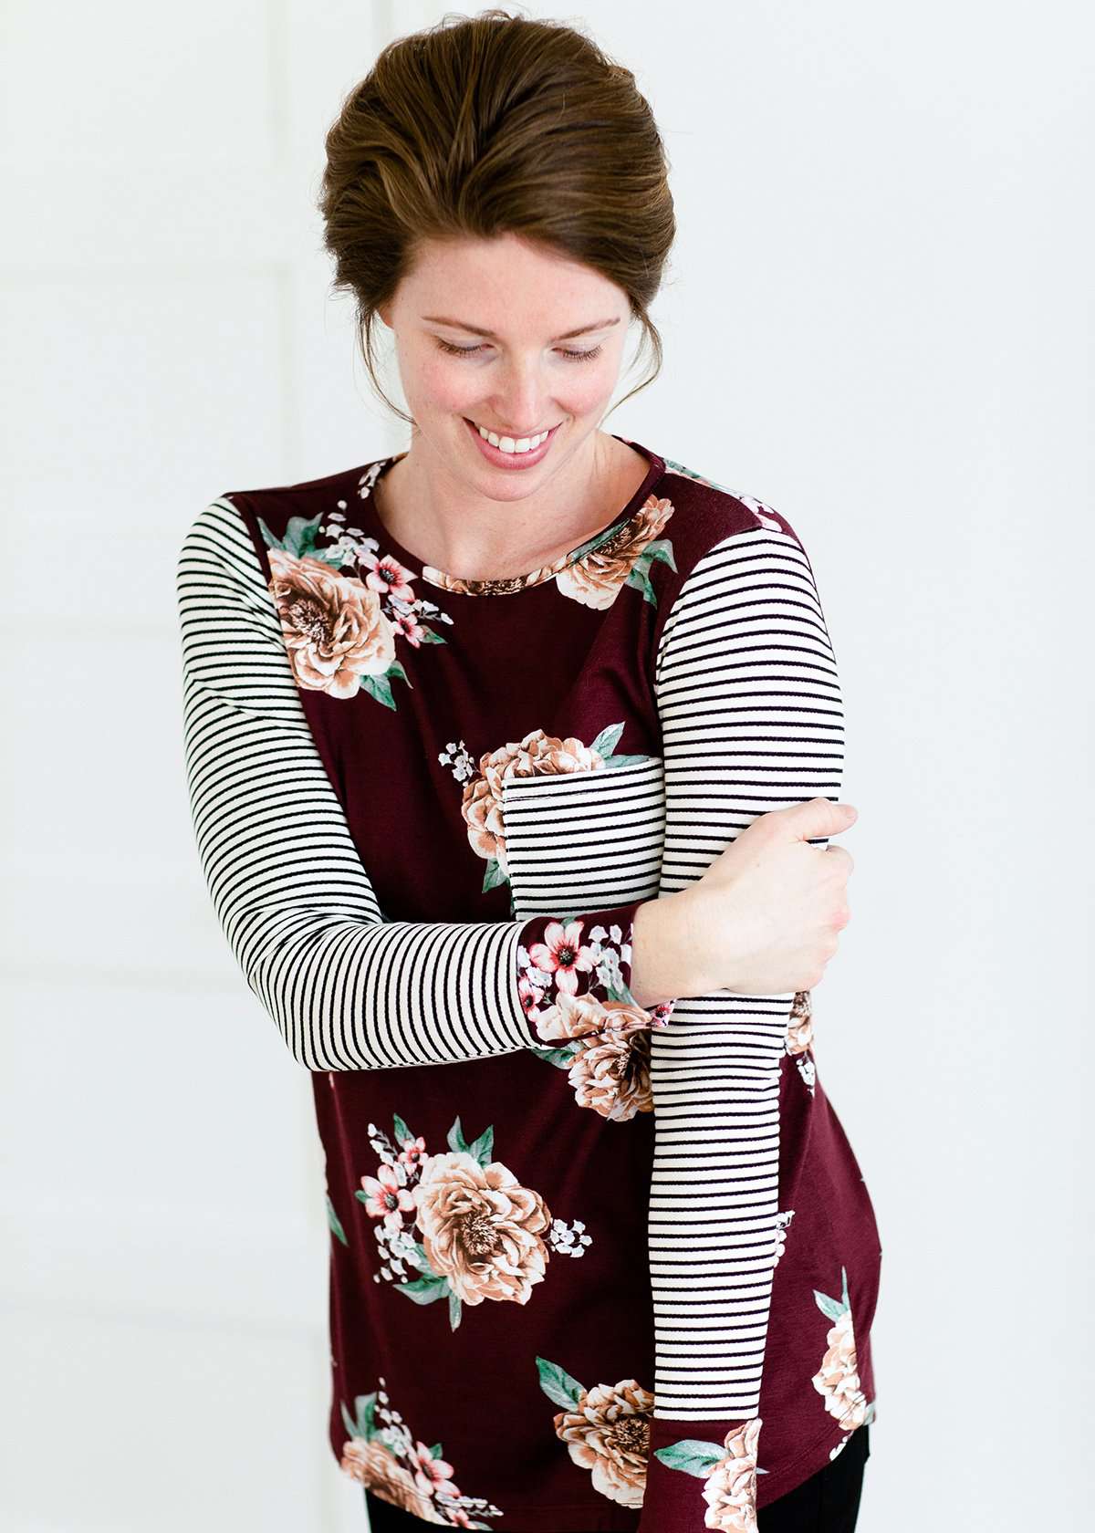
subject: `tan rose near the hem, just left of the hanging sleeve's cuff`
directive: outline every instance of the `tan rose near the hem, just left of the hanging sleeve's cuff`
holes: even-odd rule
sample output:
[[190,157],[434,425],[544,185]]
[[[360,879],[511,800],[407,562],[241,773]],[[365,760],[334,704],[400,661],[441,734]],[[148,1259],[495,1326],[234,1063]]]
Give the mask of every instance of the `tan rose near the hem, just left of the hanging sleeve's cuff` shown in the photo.
[[555,1416],[555,1435],[590,1472],[594,1489],[624,1507],[641,1507],[650,1452],[653,1395],[633,1378],[583,1389],[574,1410]]

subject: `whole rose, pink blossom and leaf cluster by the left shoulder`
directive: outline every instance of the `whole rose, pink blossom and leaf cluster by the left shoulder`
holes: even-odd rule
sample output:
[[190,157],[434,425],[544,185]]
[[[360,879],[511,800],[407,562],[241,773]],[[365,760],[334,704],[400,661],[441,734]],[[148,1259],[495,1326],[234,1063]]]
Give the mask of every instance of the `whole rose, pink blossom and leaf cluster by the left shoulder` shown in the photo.
[[[394,708],[391,679],[409,685],[396,658],[396,641],[405,639],[413,648],[445,644],[423,619],[452,619],[414,595],[411,570],[380,556],[376,538],[365,538],[360,527],[342,532],[342,520],[339,510],[331,512],[327,526],[322,514],[310,521],[290,517],[285,537],[276,538],[259,518],[270,595],[298,687],[331,698],[365,691]],[[319,546],[321,533],[336,541]],[[357,573],[342,573],[345,564]]]

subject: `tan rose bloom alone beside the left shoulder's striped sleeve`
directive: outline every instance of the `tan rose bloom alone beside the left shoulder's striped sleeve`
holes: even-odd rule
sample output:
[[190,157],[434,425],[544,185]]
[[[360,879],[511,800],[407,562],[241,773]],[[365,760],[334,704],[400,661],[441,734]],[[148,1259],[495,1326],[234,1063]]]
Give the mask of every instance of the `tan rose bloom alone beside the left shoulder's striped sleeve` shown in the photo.
[[383,676],[396,658],[380,596],[330,564],[270,549],[270,595],[299,687],[353,698],[362,676]]

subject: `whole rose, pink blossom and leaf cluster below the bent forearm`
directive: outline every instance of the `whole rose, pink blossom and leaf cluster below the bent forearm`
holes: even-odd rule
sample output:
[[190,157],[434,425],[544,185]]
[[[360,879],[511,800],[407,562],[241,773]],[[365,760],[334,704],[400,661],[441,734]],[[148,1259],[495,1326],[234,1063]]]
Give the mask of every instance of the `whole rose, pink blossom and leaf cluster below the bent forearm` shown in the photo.
[[[449,1150],[428,1154],[425,1139],[411,1134],[399,1114],[393,1125],[396,1144],[368,1125],[382,1159],[354,1194],[376,1220],[382,1266],[373,1277],[394,1282],[419,1305],[448,1298],[452,1331],[463,1305],[488,1298],[526,1305],[544,1280],[552,1249],[583,1256],[590,1245],[583,1220],[552,1219],[540,1193],[494,1159],[492,1128],[468,1144],[457,1118]],[[408,1277],[408,1269],[417,1275]]]

